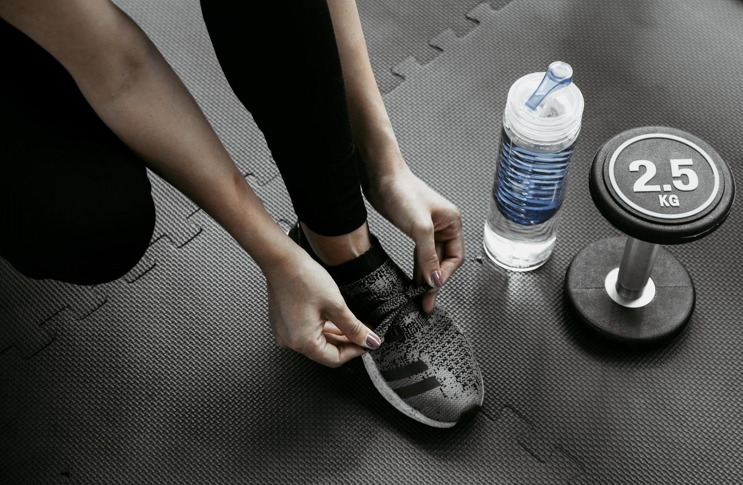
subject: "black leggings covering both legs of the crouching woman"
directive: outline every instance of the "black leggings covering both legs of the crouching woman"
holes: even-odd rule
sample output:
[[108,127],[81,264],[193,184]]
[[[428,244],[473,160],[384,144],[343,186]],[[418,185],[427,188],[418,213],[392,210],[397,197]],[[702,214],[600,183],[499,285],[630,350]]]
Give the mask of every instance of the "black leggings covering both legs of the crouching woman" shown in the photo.
[[[327,236],[358,228],[366,208],[325,0],[282,10],[278,34],[266,22],[275,8],[210,0],[202,10],[299,219]],[[0,45],[0,255],[34,278],[95,284],[122,276],[146,251],[155,223],[143,163],[65,68],[1,19]]]

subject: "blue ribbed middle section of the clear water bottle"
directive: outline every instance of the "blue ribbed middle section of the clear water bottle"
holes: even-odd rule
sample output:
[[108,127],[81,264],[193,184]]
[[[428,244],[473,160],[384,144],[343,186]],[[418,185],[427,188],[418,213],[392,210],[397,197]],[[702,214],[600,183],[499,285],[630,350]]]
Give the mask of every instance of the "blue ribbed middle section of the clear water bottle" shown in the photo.
[[502,131],[493,197],[503,216],[519,225],[551,219],[562,204],[574,148],[535,153],[513,144]]

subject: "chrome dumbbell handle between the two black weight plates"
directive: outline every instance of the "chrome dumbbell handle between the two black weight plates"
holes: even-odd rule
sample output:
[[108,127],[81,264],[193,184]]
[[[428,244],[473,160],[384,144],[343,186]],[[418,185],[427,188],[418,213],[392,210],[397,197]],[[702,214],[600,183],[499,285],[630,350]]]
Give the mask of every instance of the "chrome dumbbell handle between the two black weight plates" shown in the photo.
[[628,300],[640,298],[648,284],[657,256],[657,244],[627,236],[617,274],[617,293]]

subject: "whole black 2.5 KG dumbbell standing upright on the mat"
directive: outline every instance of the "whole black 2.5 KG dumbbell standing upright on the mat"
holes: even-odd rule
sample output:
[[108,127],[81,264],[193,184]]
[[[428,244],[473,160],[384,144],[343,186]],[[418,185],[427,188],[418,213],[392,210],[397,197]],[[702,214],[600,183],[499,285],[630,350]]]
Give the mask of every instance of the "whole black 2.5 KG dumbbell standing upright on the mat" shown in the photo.
[[652,344],[694,311],[692,279],[662,244],[707,236],[733,207],[733,173],[700,138],[665,126],[630,129],[596,153],[591,197],[627,237],[583,248],[565,275],[568,305],[606,338]]

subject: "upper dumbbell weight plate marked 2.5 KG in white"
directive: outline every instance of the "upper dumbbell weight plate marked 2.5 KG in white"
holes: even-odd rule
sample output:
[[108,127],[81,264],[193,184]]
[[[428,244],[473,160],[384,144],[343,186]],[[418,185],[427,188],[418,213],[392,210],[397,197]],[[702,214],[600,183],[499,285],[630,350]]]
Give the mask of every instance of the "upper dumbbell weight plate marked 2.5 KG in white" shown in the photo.
[[625,234],[681,244],[710,234],[733,207],[730,167],[704,140],[667,126],[622,132],[598,150],[591,196]]

